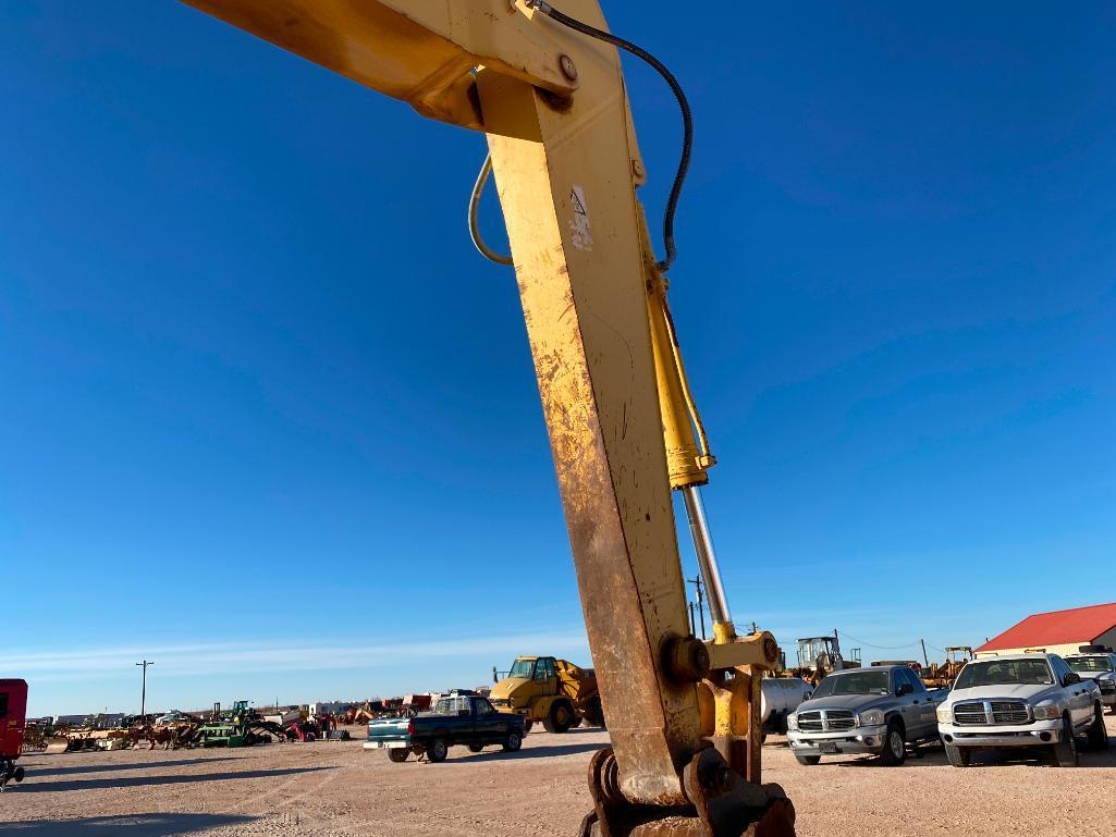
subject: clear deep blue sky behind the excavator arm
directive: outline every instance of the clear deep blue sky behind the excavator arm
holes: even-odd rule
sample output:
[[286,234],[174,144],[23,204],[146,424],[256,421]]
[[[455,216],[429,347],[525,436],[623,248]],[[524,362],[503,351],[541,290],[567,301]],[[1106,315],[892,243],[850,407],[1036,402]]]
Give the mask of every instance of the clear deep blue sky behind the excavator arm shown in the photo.
[[[1116,599],[1116,15],[676,10],[608,8],[694,106],[672,302],[738,620],[872,657]],[[482,138],[170,1],[0,20],[30,710],[135,710],[144,657],[156,708],[587,662],[514,283],[463,225]],[[657,219],[677,116],[628,78]]]

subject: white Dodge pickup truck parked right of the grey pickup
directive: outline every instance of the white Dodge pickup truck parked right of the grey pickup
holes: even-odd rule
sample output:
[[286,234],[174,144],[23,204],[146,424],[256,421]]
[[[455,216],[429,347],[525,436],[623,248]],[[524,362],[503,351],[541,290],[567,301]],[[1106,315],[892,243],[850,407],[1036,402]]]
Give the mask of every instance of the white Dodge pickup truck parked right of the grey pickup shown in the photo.
[[1057,654],[1012,654],[966,663],[937,722],[954,767],[1010,747],[1048,747],[1059,766],[1076,767],[1078,735],[1108,745],[1101,705],[1097,684]]

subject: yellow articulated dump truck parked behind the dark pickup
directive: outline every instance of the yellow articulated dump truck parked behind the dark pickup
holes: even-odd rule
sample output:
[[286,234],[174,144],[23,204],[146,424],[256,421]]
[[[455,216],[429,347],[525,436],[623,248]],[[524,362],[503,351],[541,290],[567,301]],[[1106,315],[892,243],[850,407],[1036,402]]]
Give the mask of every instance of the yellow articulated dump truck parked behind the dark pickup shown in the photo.
[[541,721],[547,732],[566,732],[585,723],[604,727],[597,676],[555,657],[516,657],[504,677],[493,668],[489,700],[499,712],[523,715],[526,728]]

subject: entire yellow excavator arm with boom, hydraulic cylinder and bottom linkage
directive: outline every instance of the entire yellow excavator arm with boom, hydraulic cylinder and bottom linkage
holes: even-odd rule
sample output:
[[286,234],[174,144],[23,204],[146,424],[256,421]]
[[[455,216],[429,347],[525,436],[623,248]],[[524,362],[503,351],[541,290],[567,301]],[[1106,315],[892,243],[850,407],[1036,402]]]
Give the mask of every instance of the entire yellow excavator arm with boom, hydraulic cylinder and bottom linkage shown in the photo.
[[[720,591],[696,493],[712,458],[636,199],[617,50],[538,0],[185,1],[488,135],[613,742],[593,759],[583,831],[793,834],[781,790],[759,785],[778,648],[737,637]],[[606,29],[596,0],[561,12]],[[672,488],[716,597],[711,643],[690,634]]]

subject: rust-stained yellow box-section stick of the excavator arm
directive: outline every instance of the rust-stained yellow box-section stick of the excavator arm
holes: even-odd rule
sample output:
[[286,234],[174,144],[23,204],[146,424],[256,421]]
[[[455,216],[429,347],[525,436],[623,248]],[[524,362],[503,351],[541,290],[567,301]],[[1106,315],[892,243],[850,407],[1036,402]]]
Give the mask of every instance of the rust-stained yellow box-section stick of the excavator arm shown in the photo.
[[[590,0],[564,11],[603,25]],[[627,99],[614,50],[569,48],[581,87],[568,107],[498,74],[478,89],[619,785],[635,802],[681,805],[700,715],[694,684],[663,666],[689,620]]]

